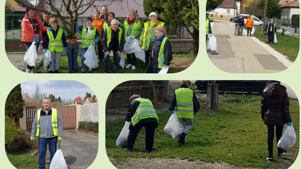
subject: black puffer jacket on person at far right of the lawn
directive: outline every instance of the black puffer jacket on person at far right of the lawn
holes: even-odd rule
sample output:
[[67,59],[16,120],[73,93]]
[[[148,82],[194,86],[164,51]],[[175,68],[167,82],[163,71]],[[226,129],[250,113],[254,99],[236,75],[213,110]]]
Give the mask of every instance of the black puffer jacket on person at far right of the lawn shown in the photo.
[[286,88],[278,83],[266,84],[261,96],[261,118],[266,125],[291,122]]

